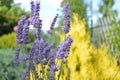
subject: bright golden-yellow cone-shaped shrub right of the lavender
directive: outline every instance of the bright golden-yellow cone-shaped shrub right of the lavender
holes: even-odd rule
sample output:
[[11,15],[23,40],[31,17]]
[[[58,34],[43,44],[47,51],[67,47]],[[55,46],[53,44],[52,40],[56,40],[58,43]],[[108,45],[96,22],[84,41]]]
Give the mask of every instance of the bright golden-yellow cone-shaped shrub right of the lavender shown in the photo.
[[[116,58],[108,53],[104,44],[96,48],[90,43],[85,21],[79,20],[77,14],[74,14],[71,31],[67,35],[69,34],[73,36],[74,42],[60,80],[66,80],[68,67],[70,80],[120,80]],[[65,35],[62,33],[60,36],[64,40]]]

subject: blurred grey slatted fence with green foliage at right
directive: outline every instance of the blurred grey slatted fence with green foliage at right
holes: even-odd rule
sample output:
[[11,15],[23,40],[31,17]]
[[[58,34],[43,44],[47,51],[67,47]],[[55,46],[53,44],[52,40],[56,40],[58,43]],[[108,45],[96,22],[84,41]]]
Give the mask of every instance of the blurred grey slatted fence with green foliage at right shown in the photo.
[[93,27],[92,42],[99,47],[103,42],[112,53],[120,52],[120,25],[115,16],[99,19],[97,26]]

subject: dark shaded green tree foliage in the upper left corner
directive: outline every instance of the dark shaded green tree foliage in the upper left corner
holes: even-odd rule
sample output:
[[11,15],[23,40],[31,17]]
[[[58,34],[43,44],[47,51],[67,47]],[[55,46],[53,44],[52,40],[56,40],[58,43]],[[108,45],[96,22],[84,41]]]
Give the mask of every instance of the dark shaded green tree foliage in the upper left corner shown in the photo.
[[0,5],[0,36],[13,31],[21,15],[29,15],[29,12],[20,8],[19,4],[11,4],[10,8]]

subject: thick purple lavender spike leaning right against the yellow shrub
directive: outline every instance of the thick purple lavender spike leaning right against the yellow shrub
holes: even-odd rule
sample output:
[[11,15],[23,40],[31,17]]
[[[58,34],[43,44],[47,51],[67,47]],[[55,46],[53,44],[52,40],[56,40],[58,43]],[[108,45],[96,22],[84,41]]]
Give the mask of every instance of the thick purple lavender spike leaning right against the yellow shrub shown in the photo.
[[56,49],[56,57],[58,59],[63,59],[68,56],[72,42],[72,37],[68,36],[65,41],[58,46],[58,48]]

